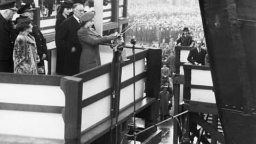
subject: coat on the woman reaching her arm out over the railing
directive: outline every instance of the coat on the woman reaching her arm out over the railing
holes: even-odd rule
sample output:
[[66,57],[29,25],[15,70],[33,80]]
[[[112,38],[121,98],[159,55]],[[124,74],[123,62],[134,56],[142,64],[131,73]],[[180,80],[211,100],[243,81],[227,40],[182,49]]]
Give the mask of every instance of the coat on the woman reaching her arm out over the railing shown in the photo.
[[80,58],[80,72],[100,66],[99,44],[110,42],[108,36],[100,36],[89,28],[82,27],[77,32],[83,47]]

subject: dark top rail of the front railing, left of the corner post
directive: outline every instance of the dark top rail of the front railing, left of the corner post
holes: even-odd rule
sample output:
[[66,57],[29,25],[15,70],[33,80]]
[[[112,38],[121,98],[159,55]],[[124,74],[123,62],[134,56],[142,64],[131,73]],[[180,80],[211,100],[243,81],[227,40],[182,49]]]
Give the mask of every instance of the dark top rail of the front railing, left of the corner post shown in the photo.
[[63,76],[0,73],[0,83],[60,86]]

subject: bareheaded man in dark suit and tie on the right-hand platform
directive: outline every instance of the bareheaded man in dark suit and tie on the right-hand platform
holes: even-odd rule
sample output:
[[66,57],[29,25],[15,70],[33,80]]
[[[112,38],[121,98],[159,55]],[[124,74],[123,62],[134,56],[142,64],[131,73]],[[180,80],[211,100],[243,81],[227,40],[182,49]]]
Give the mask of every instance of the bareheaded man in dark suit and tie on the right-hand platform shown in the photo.
[[197,40],[193,49],[190,49],[188,54],[188,61],[193,63],[193,65],[205,65],[204,58],[206,55],[206,50],[202,49],[202,41]]

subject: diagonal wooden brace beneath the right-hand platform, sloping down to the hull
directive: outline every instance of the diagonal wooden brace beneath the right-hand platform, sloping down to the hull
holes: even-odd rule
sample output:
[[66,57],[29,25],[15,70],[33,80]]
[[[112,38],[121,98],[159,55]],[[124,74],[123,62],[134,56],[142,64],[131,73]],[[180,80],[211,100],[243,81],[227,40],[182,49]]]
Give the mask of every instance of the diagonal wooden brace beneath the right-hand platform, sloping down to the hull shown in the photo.
[[204,119],[200,117],[198,114],[191,113],[190,117],[192,121],[202,126],[205,131],[209,132],[212,135],[212,137],[215,137],[220,143],[226,143],[224,135],[219,133],[218,130],[214,129],[214,127],[212,127],[209,123],[204,121]]

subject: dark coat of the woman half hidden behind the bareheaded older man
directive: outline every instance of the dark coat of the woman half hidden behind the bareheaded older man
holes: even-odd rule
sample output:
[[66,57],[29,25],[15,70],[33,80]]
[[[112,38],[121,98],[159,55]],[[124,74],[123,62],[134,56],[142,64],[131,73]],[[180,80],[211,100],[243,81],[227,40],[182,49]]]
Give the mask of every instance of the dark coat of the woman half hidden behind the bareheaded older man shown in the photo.
[[55,44],[57,47],[56,73],[59,75],[63,75],[65,53],[64,51],[61,51],[61,47],[59,46],[57,39],[58,39],[60,25],[64,20],[66,20],[66,18],[62,14],[57,15],[56,25],[55,25]]

